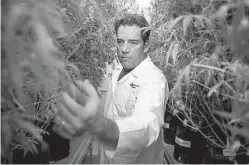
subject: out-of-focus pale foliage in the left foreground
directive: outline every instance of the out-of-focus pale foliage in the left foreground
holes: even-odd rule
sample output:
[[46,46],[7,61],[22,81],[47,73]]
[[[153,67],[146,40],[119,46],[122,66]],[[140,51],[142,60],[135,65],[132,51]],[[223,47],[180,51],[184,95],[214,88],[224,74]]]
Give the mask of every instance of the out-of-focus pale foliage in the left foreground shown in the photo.
[[55,93],[71,79],[63,54],[53,43],[65,35],[55,4],[25,0],[2,3],[6,13],[2,22],[2,155],[10,158],[12,142],[26,144],[25,152],[37,151],[36,140],[46,148],[33,123],[49,120],[42,111],[51,111]]

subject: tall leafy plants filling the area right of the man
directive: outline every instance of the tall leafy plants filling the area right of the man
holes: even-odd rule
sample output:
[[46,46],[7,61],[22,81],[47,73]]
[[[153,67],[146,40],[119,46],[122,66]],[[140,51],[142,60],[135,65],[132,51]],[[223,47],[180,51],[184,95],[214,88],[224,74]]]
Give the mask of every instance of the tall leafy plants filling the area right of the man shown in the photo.
[[248,146],[247,8],[248,1],[172,0],[155,1],[151,13],[150,55],[169,81],[170,111],[232,152]]

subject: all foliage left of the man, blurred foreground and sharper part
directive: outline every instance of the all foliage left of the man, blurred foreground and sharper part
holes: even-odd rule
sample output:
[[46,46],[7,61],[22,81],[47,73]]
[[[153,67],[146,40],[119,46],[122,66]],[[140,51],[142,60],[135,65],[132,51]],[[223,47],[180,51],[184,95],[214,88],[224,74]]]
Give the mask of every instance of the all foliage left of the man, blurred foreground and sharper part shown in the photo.
[[[75,79],[101,84],[112,62],[112,1],[2,1],[2,158],[48,151],[42,135],[61,91]],[[101,9],[99,11],[99,9]],[[115,10],[114,10],[115,11]],[[113,19],[114,20],[114,19]]]

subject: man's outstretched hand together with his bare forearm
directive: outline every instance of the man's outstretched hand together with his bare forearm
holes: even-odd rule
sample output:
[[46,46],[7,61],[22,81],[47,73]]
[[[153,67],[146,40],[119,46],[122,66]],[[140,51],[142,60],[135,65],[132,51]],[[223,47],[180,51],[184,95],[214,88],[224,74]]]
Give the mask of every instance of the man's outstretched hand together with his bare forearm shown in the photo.
[[105,147],[115,150],[119,139],[117,124],[98,116],[99,96],[88,80],[70,86],[58,102],[57,125],[53,130],[60,136],[72,139],[84,131],[94,135]]

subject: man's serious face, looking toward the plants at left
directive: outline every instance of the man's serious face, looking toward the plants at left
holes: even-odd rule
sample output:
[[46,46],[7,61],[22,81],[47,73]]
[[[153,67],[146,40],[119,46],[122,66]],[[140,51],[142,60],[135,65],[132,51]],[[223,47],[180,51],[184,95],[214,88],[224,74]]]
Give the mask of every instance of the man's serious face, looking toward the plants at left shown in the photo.
[[118,59],[125,70],[131,70],[145,58],[141,28],[137,25],[120,26],[117,30]]

